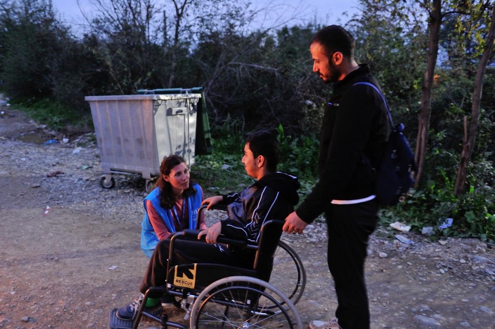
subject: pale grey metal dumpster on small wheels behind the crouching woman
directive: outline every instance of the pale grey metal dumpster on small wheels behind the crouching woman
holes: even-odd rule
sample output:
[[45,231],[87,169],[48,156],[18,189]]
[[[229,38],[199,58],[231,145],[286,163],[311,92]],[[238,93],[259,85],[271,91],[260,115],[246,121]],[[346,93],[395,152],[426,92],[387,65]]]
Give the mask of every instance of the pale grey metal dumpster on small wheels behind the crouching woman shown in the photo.
[[178,154],[194,164],[197,104],[201,94],[87,96],[96,133],[102,187],[113,174],[140,173],[146,190],[163,157]]

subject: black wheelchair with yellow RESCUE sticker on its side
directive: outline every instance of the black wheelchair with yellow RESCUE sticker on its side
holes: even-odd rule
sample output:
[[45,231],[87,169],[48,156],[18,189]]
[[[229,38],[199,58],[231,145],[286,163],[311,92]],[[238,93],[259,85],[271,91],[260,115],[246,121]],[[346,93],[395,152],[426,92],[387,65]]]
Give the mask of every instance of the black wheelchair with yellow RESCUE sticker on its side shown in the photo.
[[[219,243],[255,250],[254,264],[251,268],[210,263],[172,264],[175,241],[187,238],[196,239],[199,231],[184,230],[174,234],[170,240],[167,285],[150,287],[133,321],[118,319],[116,317],[118,309],[114,309],[110,313],[109,327],[111,329],[137,329],[144,315],[158,322],[160,328],[170,326],[180,329],[301,329],[302,322],[291,298],[296,303],[300,299],[305,286],[305,272],[297,254],[290,246],[279,240],[283,223],[281,220],[269,220],[264,223],[258,244],[223,236],[217,238]],[[273,243],[274,239],[278,241],[278,244]],[[281,263],[274,261],[277,253],[284,255],[285,261]],[[296,263],[298,273],[297,279],[293,280],[297,282],[295,287],[291,286],[288,289],[290,297],[287,297],[269,282],[275,282],[280,287],[287,286],[283,278],[276,278],[274,275],[287,272],[294,274],[294,263]],[[189,321],[189,326],[169,321],[166,309],[154,314],[144,310],[143,305],[146,304],[150,294],[163,293],[174,296],[176,306],[186,312],[184,320]]]

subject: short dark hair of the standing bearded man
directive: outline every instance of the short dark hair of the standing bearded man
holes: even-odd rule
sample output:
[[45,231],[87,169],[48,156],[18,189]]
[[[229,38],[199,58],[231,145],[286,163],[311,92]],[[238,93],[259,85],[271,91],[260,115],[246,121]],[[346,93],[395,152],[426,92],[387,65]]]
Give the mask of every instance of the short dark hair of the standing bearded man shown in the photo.
[[345,58],[354,58],[354,37],[339,25],[329,25],[316,32],[311,39],[311,45],[314,43],[322,45],[327,56],[339,51]]

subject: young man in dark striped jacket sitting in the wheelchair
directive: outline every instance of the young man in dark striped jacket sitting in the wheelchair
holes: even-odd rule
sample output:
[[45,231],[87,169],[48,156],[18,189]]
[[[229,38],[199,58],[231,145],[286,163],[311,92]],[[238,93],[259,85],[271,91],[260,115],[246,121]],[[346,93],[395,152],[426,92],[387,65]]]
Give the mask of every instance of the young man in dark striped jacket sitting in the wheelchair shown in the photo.
[[[203,204],[227,204],[228,219],[221,220],[198,234],[208,243],[193,240],[177,240],[174,243],[173,264],[212,263],[250,268],[255,251],[232,245],[216,243],[219,235],[244,239],[257,243],[263,223],[270,219],[283,219],[294,210],[299,201],[297,177],[277,172],[279,146],[275,136],[267,132],[251,134],[244,146],[242,163],[249,176],[256,182],[241,193],[209,197]],[[280,232],[281,233],[281,232]],[[276,248],[280,235],[273,237]],[[170,240],[161,240],[156,246],[145,276],[140,285],[141,294],[152,286],[163,286],[167,280],[167,259]],[[269,278],[269,274],[267,274]],[[160,296],[148,298],[145,311],[156,312],[162,307]],[[167,296],[166,296],[167,297]],[[172,297],[172,296],[168,296]],[[135,302],[122,306],[117,317],[133,320],[138,312],[141,297]],[[163,298],[163,297],[162,297]],[[163,299],[162,299],[163,300]]]

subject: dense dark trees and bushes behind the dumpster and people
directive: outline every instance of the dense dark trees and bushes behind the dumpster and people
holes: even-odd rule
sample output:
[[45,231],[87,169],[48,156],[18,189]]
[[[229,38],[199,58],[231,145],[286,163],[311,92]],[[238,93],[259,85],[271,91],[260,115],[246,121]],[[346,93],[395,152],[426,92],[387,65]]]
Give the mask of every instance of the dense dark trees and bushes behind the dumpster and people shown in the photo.
[[[256,25],[262,11],[244,0],[92,0],[97,8],[85,34],[57,19],[49,0],[0,0],[0,89],[14,107],[61,131],[91,131],[90,95],[139,89],[203,87],[214,154],[198,156],[197,180],[231,192],[249,184],[240,158],[243,136],[277,131],[280,169],[297,174],[302,194],[318,177],[322,104],[331,93],[312,73],[311,36],[322,26]],[[407,138],[416,145],[424,104],[433,4],[417,0],[360,0],[361,14],[345,26],[356,37],[356,59],[380,81]],[[466,143],[480,56],[486,49],[493,2],[442,2],[439,53],[428,97],[425,166],[416,193],[382,210],[384,223],[413,229],[453,218],[445,236],[495,240],[495,60],[483,81],[476,140],[463,192],[456,173]],[[246,10],[246,8],[248,8]],[[431,73],[431,72],[429,72]],[[431,76],[431,75],[430,75]],[[424,120],[425,117],[423,116]],[[230,167],[226,167],[224,165]],[[222,167],[224,169],[222,169]]]

